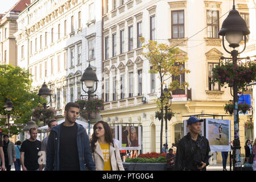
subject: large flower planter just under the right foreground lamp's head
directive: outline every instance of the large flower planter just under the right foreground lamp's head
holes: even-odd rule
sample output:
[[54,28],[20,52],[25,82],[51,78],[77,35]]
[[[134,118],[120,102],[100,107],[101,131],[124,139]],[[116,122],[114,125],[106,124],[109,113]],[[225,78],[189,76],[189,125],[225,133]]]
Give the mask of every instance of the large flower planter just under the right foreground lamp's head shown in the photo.
[[212,84],[218,82],[221,86],[224,84],[233,85],[236,80],[238,82],[238,89],[245,90],[247,83],[256,81],[256,64],[255,61],[247,61],[246,63],[239,62],[233,64],[232,61],[216,65],[212,69],[213,81]]

